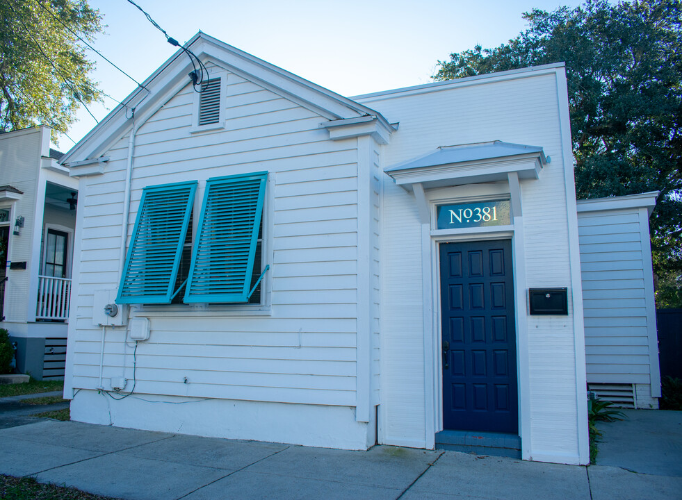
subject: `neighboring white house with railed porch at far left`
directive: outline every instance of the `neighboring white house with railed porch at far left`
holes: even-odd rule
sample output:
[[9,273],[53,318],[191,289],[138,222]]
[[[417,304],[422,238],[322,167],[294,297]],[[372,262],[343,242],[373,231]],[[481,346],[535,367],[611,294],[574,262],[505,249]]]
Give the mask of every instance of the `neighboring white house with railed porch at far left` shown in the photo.
[[78,194],[50,130],[0,134],[0,328],[39,380],[64,376]]

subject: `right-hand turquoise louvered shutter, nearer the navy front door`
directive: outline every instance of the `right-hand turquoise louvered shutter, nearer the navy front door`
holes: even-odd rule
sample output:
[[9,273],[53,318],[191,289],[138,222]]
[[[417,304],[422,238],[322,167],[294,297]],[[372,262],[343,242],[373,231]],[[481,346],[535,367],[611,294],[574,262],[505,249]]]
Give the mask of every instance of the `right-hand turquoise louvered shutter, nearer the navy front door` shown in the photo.
[[184,301],[246,302],[267,172],[206,181]]

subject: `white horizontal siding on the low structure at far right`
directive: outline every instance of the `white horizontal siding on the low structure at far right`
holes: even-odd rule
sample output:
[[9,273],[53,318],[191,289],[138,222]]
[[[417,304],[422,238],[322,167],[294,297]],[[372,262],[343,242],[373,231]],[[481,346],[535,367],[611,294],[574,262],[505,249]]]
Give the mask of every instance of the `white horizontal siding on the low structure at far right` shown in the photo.
[[[640,210],[578,213],[587,381],[650,384],[650,318],[644,286],[651,260]],[[644,219],[646,221],[646,218]],[[655,321],[655,319],[653,319]],[[658,354],[658,353],[656,353]]]

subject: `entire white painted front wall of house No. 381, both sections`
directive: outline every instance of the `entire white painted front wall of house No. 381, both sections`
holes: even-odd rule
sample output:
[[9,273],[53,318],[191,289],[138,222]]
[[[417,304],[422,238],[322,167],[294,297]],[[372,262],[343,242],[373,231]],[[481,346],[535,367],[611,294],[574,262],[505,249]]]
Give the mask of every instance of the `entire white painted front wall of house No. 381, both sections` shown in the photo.
[[[542,146],[553,161],[539,181],[522,183],[523,222],[506,238],[523,240],[523,256],[514,258],[523,259],[529,286],[567,286],[574,294],[577,287],[580,297],[572,264],[577,236],[569,231],[577,223],[567,107],[565,96],[558,98],[565,94],[562,74],[550,67],[363,97],[400,122],[391,144],[378,147],[373,136],[352,137],[343,126],[320,128],[325,118],[306,100],[310,88],[305,99],[285,98],[243,72],[227,74],[225,128],[191,133],[192,91],[171,92],[177,83],[160,73],[170,94],[135,124],[128,239],[147,185],[198,180],[201,197],[206,178],[267,170],[263,238],[271,292],[262,306],[136,306],[131,316],[151,322],[151,337],[137,351],[125,342],[124,328],[95,326],[95,292],[120,280],[129,151],[128,132],[101,151],[98,141],[110,142],[96,130],[70,158],[95,158],[83,151],[109,158],[103,174],[81,178],[79,187],[65,385],[74,398],[72,418],[363,449],[373,443],[379,404],[382,442],[432,447],[440,356],[428,346],[439,346],[439,332],[425,330],[438,324],[439,306],[437,299],[425,303],[424,283],[432,272],[437,276],[437,262],[428,262],[436,247],[412,196],[381,169],[443,145]],[[299,84],[282,83],[289,90]],[[565,318],[533,318],[519,333],[528,346],[520,388],[524,458],[585,462],[582,311],[575,303],[569,309]],[[517,310],[526,310],[525,298]],[[100,359],[102,387],[111,387],[111,378],[130,384],[134,378],[135,394],[122,401],[97,394]]]

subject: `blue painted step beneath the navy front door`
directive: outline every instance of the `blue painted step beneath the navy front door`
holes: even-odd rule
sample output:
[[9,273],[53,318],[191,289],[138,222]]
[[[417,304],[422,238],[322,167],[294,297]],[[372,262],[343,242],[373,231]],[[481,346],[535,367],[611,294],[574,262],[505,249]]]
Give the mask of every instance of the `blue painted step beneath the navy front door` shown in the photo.
[[515,434],[448,429],[436,433],[436,449],[521,458],[521,437]]

